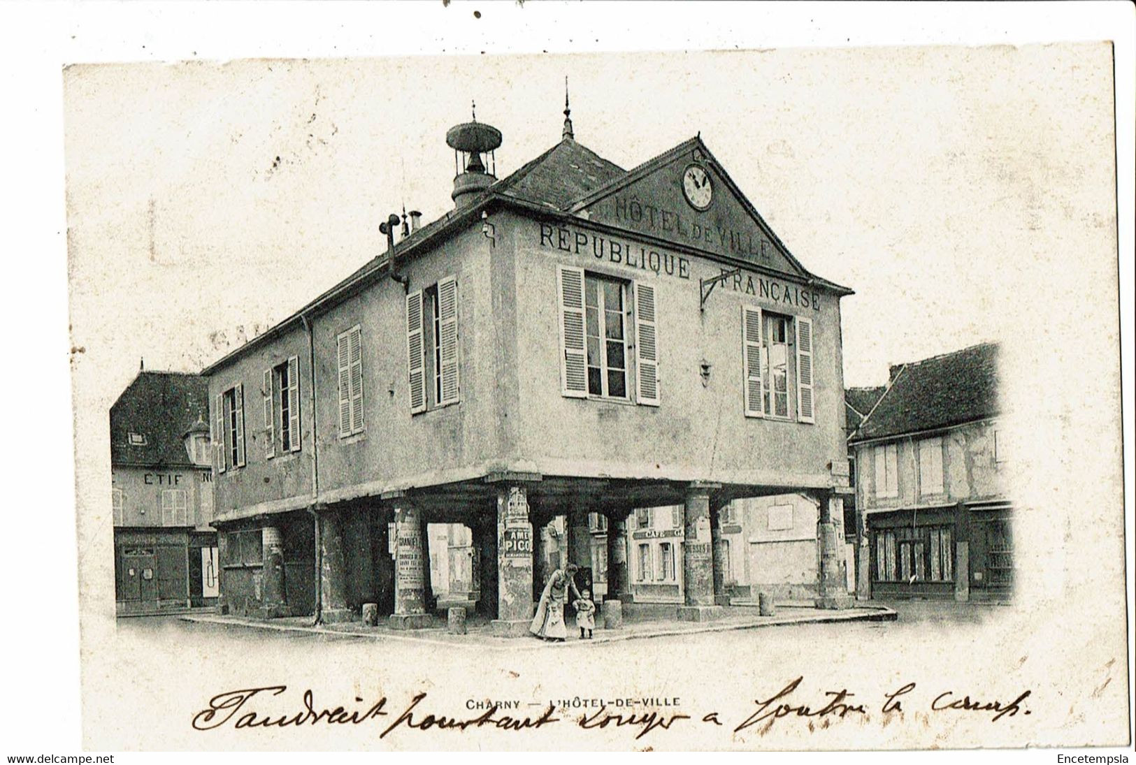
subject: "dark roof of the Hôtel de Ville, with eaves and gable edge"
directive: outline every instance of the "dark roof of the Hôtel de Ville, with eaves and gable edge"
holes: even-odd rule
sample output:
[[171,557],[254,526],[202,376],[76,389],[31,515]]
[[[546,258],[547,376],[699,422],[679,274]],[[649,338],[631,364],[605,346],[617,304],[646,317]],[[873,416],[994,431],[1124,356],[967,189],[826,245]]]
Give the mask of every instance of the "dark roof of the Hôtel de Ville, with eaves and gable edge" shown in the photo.
[[[517,168],[513,173],[494,182],[468,204],[448,211],[442,217],[395,243],[395,258],[401,260],[415,257],[416,253],[423,251],[425,247],[442,242],[463,230],[467,226],[477,222],[482,213],[494,205],[513,205],[532,212],[545,212],[565,218],[566,220],[571,219],[580,203],[596,195],[610,192],[624,182],[641,177],[643,174],[651,171],[673,158],[676,153],[691,148],[698,148],[705,155],[710,155],[710,150],[702,142],[702,138],[695,136],[677,146],[668,149],[632,170],[625,170],[615,162],[603,159],[587,146],[578,143],[575,138],[565,137],[548,151]],[[722,173],[725,175],[725,170]],[[733,182],[728,183],[733,185]],[[744,200],[741,191],[736,188],[735,191]],[[746,204],[749,203],[746,202]],[[752,205],[749,207],[752,215],[760,218],[757,210],[753,210]],[[765,222],[762,221],[761,225],[765,226]],[[771,230],[770,235],[776,239],[776,235],[772,235]],[[784,244],[779,239],[776,241],[800,271],[797,274],[799,277],[809,279],[810,284],[815,286],[834,289],[841,294],[851,294],[847,287],[842,287],[804,269],[803,266],[788,254],[787,247],[784,247]],[[351,294],[359,285],[385,272],[387,263],[389,258],[386,252],[368,260],[345,279],[324,292],[275,327],[207,365],[202,373],[211,373],[229,359],[240,355],[252,346],[266,342],[291,325],[298,323],[302,314],[309,314],[324,305],[334,304],[345,295]]]

